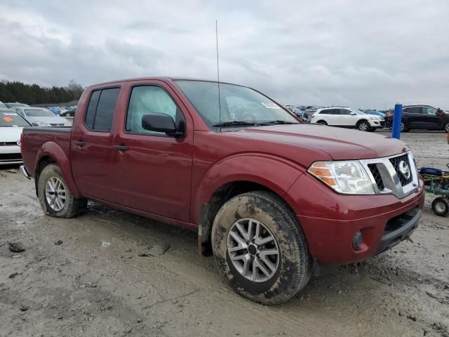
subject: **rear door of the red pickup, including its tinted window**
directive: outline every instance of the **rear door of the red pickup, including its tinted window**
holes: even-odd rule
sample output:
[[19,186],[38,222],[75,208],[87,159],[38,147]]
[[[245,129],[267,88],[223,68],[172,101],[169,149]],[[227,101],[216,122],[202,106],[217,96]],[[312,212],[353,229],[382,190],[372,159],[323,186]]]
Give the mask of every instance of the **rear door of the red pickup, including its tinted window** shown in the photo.
[[91,91],[72,129],[72,174],[88,197],[112,201],[115,193],[114,140],[111,133],[120,87]]

